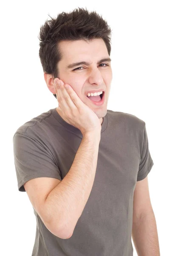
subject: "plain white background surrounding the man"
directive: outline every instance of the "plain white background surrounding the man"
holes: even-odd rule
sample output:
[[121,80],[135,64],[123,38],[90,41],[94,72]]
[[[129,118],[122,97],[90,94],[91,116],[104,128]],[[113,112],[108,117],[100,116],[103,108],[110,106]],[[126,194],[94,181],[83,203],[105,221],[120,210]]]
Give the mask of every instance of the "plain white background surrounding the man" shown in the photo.
[[[87,7],[113,29],[113,81],[107,109],[146,122],[154,166],[149,192],[161,256],[168,253],[169,212],[169,7],[164,0],[6,1],[1,4],[1,252],[31,256],[36,218],[28,195],[19,192],[13,136],[20,125],[58,106],[39,60],[40,26],[59,12]],[[111,6],[110,6],[111,5]],[[132,241],[133,242],[133,241]],[[134,248],[134,256],[137,255]]]

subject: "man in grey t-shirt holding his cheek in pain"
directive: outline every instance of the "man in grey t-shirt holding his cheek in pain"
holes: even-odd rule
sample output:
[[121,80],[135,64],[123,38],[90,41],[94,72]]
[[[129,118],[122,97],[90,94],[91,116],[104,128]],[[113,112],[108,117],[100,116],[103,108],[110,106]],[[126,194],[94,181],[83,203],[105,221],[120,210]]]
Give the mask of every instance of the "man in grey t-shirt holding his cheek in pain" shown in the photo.
[[34,256],[132,256],[131,236],[139,256],[160,255],[145,122],[107,110],[110,32],[85,9],[41,27],[39,57],[59,106],[13,138],[18,189],[37,219]]

